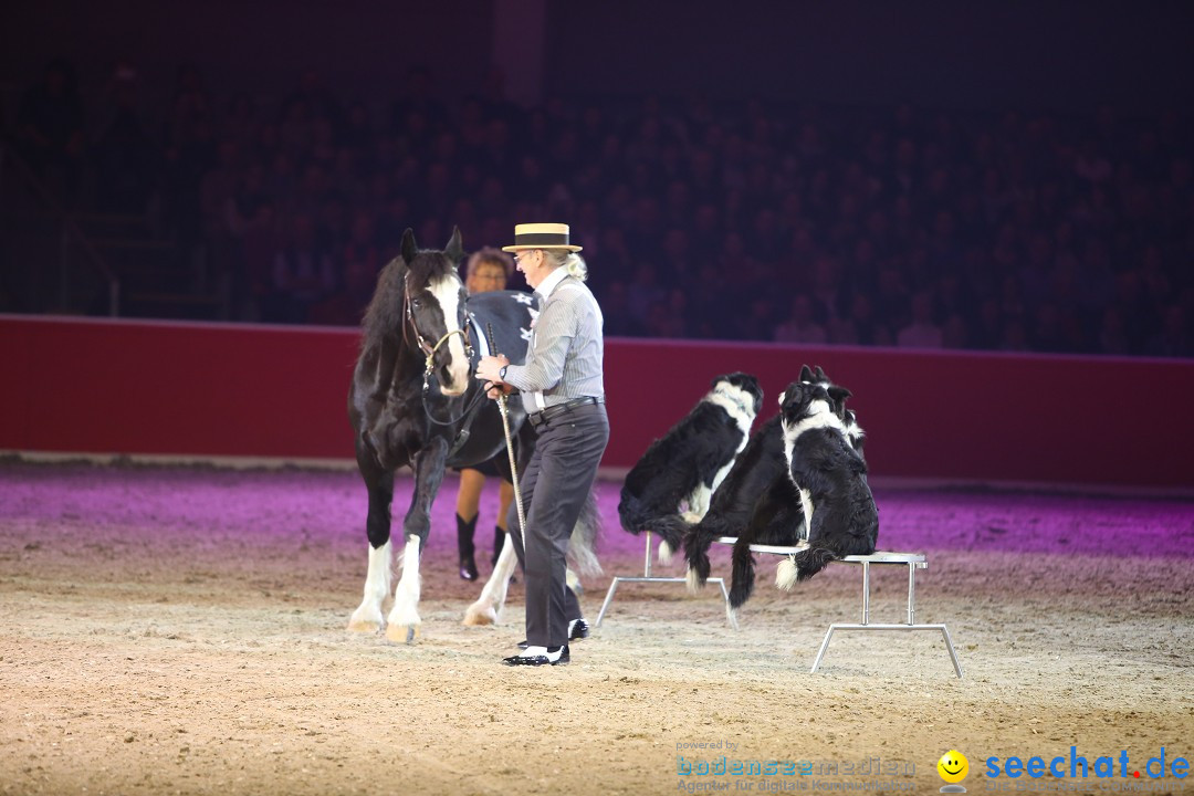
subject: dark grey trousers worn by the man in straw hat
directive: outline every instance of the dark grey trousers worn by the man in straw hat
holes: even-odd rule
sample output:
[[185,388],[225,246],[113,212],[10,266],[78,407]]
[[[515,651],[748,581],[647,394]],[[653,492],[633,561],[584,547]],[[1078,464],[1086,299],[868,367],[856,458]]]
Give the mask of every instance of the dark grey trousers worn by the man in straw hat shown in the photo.
[[568,643],[568,622],[580,618],[577,596],[565,582],[565,554],[608,442],[605,406],[578,407],[540,426],[527,471],[518,474],[527,538],[517,532],[513,505],[506,527],[525,574],[527,643],[533,647]]

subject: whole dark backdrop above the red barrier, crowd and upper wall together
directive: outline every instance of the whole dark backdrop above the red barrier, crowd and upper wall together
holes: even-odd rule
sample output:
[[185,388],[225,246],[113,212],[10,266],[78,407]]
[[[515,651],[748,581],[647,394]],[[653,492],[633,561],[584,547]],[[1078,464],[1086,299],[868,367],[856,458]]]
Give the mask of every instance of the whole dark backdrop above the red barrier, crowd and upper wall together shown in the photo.
[[[584,239],[614,335],[1190,357],[1192,8],[7,4],[0,311],[355,323],[401,228],[476,248],[548,218]],[[55,60],[80,148],[47,163],[23,136]],[[296,97],[322,160],[257,141]],[[289,183],[246,185],[276,152]],[[296,292],[275,264],[302,221],[326,273]]]

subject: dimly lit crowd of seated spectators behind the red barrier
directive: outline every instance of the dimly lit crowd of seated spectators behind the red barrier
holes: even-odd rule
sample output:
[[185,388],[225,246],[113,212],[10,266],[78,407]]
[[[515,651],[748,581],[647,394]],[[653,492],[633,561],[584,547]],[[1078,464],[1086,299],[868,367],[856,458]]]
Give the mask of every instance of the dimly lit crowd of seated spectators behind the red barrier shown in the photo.
[[610,335],[1194,356],[1188,109],[521,107],[497,70],[443,97],[418,68],[395,97],[75,84],[60,61],[30,85],[16,150],[80,209],[152,216],[234,320],[356,323],[405,228],[475,249],[548,220]]

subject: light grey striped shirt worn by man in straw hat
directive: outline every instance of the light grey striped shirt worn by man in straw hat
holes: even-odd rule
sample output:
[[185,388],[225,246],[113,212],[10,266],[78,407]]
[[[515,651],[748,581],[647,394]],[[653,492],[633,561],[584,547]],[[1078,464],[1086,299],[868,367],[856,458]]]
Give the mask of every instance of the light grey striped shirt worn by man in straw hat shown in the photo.
[[523,394],[527,412],[578,397],[604,397],[604,317],[597,300],[564,267],[553,271],[535,292],[540,309],[527,362],[509,365],[504,381]]

